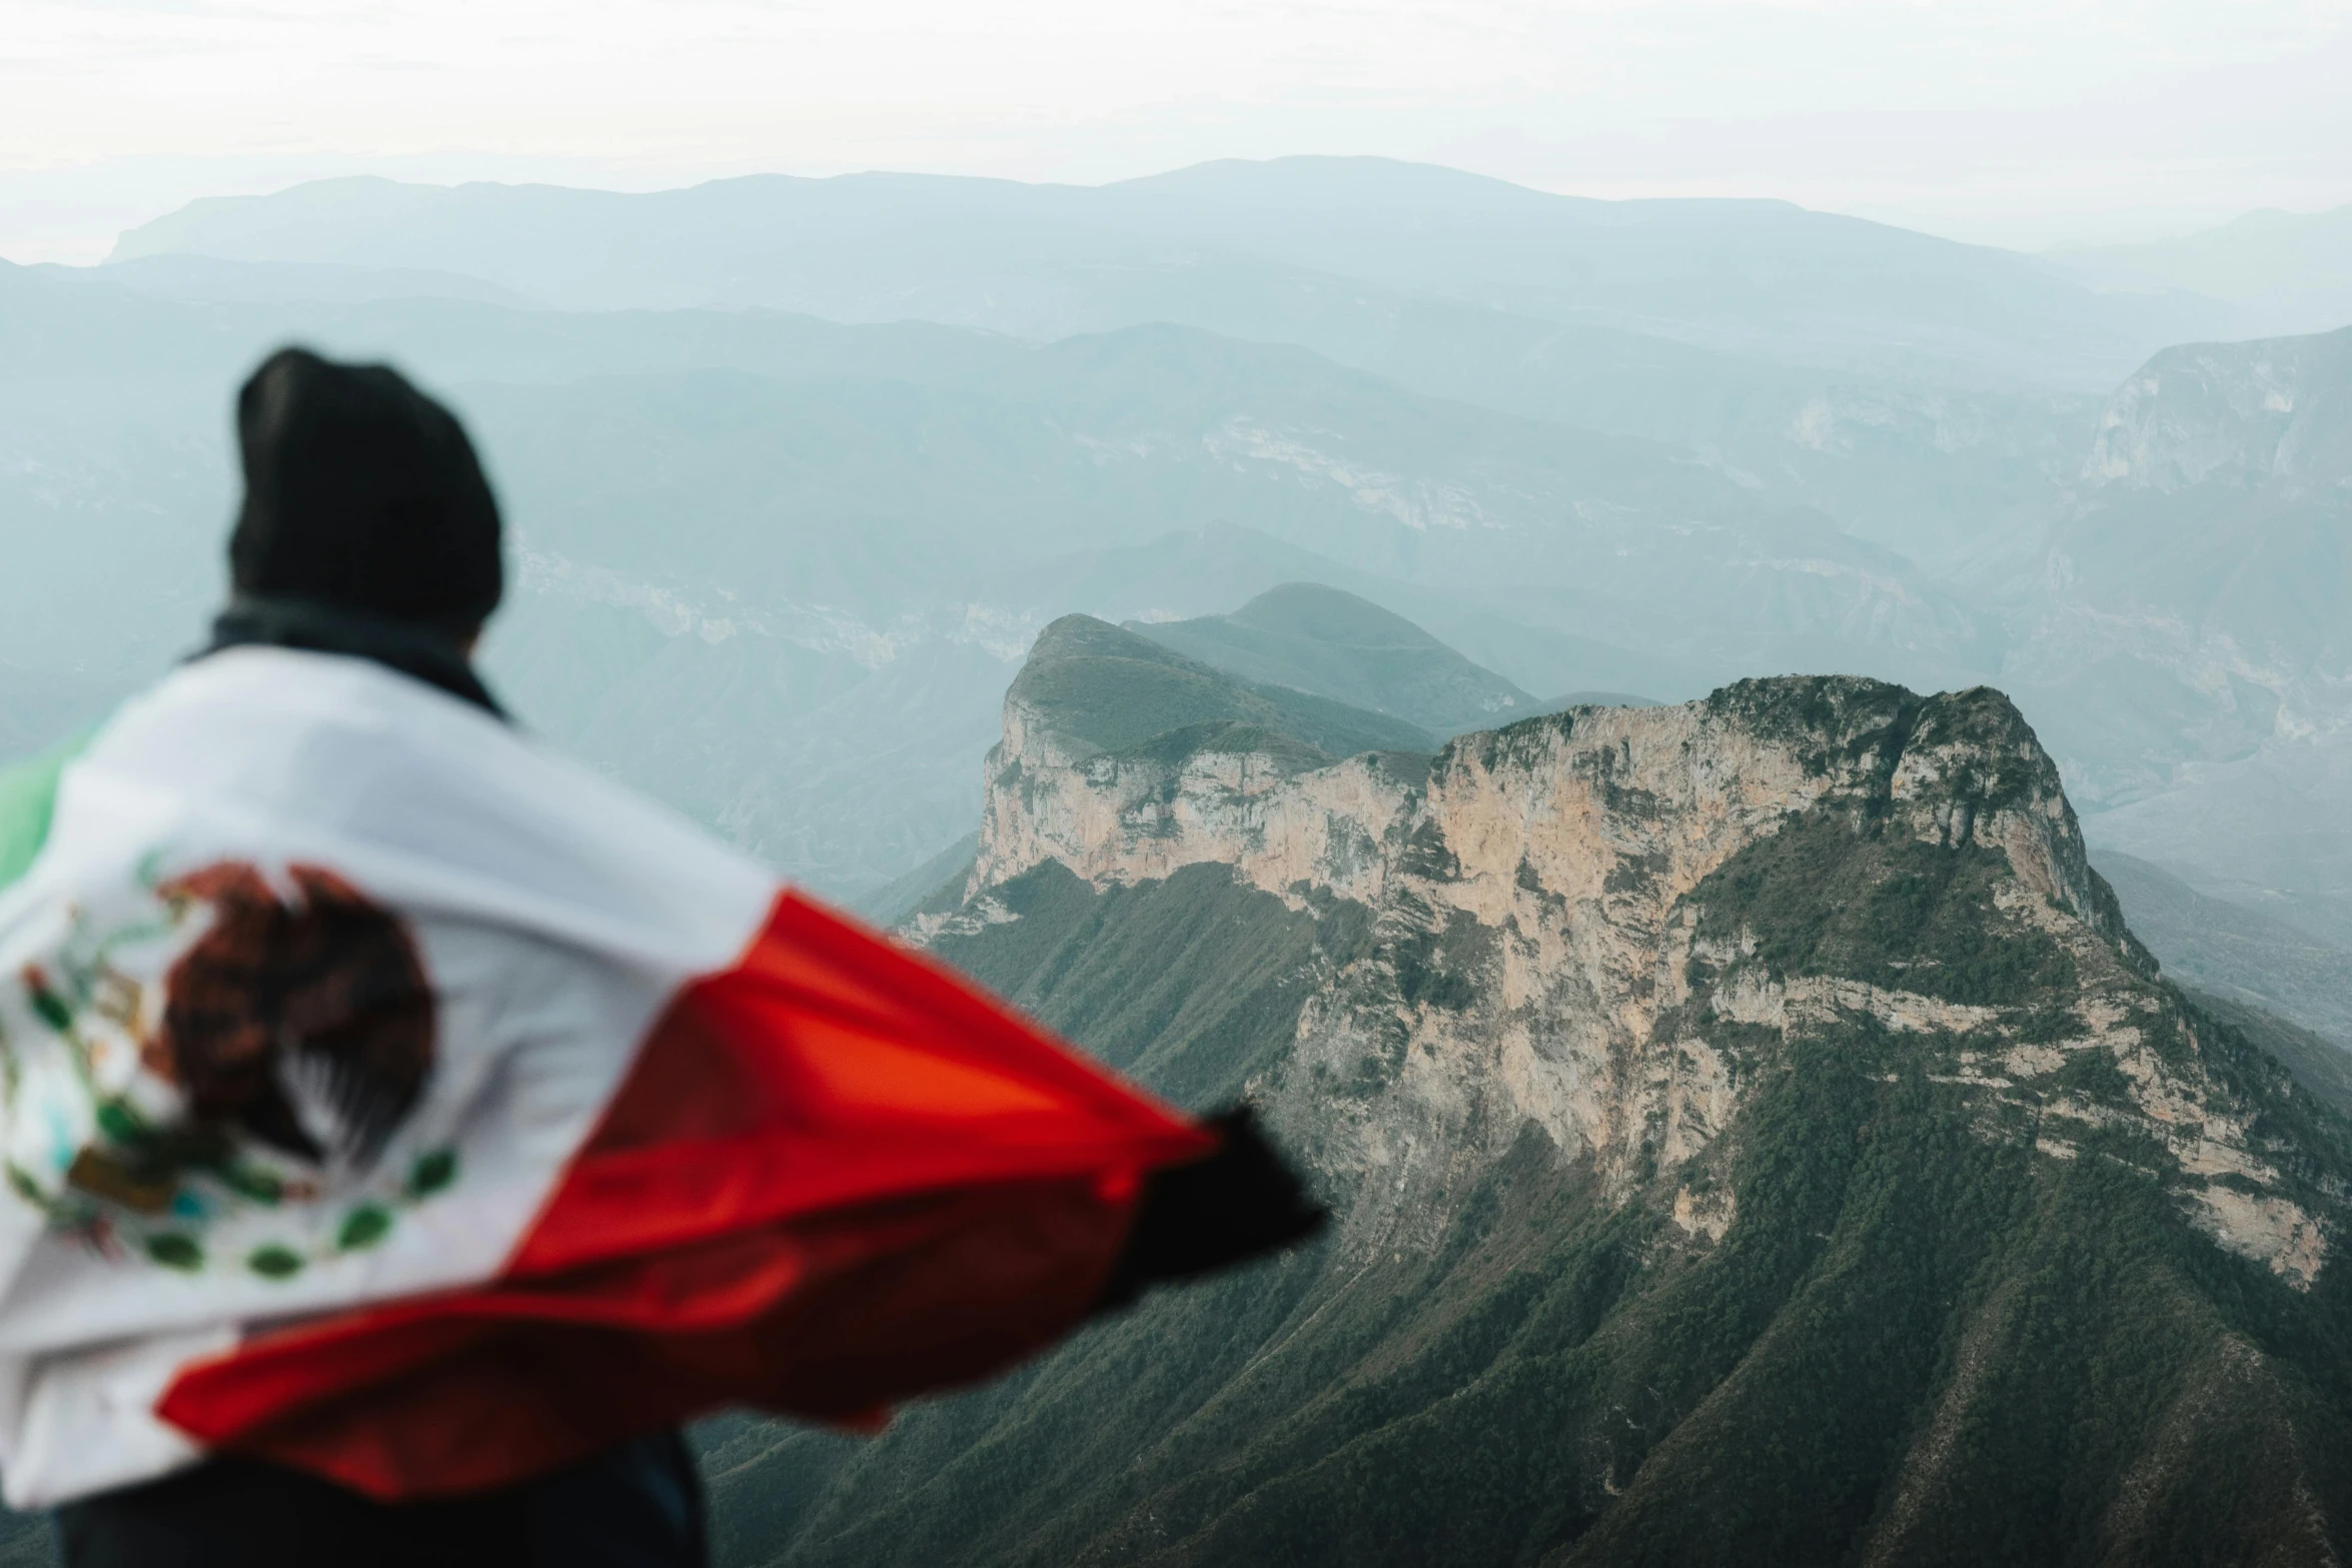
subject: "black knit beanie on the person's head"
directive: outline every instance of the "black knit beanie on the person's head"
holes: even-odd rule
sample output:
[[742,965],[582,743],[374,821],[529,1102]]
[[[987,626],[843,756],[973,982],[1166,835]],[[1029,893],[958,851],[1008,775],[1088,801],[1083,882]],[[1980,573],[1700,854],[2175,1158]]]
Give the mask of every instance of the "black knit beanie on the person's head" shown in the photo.
[[280,348],[238,393],[240,595],[315,599],[470,637],[499,607],[499,503],[473,442],[386,364]]

